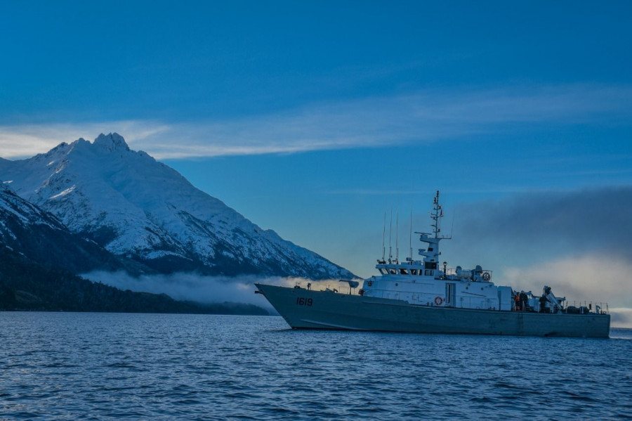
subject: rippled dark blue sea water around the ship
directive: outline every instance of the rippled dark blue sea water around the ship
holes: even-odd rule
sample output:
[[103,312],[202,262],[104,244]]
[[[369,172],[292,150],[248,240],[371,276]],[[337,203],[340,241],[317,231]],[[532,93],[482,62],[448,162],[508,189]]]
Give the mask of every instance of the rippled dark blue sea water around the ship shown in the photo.
[[0,419],[632,419],[611,339],[289,330],[279,317],[0,313]]

